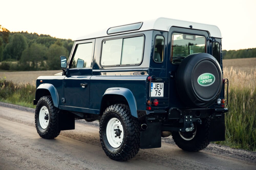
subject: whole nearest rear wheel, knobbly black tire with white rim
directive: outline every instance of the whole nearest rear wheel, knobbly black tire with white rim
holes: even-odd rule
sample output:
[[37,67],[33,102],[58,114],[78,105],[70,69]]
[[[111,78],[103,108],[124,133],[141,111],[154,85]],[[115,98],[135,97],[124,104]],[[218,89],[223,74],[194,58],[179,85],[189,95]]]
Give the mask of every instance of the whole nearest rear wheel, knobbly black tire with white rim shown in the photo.
[[125,104],[109,106],[100,120],[100,141],[109,158],[126,161],[140,149],[139,122]]

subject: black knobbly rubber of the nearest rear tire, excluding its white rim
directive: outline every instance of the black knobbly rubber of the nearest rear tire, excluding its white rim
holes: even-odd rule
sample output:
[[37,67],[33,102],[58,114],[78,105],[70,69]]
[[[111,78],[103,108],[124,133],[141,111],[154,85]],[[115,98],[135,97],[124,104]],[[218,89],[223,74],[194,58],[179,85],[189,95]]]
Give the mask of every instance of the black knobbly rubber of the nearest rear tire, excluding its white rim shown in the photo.
[[[123,125],[124,137],[118,148],[113,148],[106,137],[106,127],[112,118],[118,118]],[[139,122],[131,115],[129,107],[125,104],[114,104],[106,108],[100,120],[99,133],[103,150],[113,160],[131,159],[140,149]]]

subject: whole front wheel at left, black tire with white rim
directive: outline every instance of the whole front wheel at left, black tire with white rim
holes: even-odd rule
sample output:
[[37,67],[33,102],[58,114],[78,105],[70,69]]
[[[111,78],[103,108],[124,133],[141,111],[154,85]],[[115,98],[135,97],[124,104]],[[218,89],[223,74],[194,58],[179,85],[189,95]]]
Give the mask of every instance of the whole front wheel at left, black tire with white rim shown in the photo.
[[38,100],[35,111],[37,133],[45,139],[56,138],[58,130],[58,108],[54,107],[51,96],[43,96]]

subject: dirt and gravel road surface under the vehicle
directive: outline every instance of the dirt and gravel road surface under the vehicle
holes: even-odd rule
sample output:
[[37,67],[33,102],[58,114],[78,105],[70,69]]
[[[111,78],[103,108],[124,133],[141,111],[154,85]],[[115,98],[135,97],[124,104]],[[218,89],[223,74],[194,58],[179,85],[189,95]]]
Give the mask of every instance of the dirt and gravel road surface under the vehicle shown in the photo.
[[0,169],[256,169],[256,153],[210,144],[200,152],[179,149],[171,137],[162,147],[141,149],[131,160],[109,159],[98,122],[79,120],[55,139],[36,132],[34,109],[0,102]]

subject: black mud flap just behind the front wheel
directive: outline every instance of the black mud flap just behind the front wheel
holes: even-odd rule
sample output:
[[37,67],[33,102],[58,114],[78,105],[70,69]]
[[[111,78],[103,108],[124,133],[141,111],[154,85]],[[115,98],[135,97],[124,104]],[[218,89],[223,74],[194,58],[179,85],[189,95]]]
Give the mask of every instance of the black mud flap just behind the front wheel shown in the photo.
[[59,112],[58,114],[59,130],[75,129],[75,115],[73,113]]

